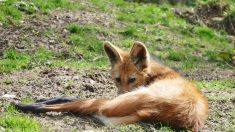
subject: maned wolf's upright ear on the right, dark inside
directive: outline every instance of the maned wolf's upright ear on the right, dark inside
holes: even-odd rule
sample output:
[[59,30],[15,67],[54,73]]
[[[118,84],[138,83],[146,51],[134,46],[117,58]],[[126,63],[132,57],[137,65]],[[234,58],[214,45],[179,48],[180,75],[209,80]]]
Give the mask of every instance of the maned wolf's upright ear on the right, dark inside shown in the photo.
[[131,60],[139,70],[148,67],[150,56],[147,48],[141,42],[135,42],[130,51]]

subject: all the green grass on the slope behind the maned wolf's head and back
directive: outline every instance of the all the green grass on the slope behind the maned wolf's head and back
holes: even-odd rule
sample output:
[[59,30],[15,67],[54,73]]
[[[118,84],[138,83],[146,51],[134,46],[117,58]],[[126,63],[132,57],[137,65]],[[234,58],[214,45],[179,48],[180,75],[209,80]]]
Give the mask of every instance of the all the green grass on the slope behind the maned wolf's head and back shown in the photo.
[[[13,6],[15,2],[10,0],[0,6],[14,11],[15,9],[11,8],[15,8]],[[80,8],[82,6],[79,3],[74,4],[68,0],[48,0],[46,2],[30,0],[30,2],[33,2],[42,12],[57,8],[85,9]],[[200,69],[210,63],[228,67],[228,64],[231,63],[232,57],[227,55],[232,52],[233,47],[225,32],[206,26],[192,25],[186,20],[176,17],[171,5],[141,4],[124,0],[89,0],[88,2],[95,6],[89,10],[112,12],[113,19],[125,26],[113,25],[112,28],[108,28],[101,25],[68,24],[67,30],[70,35],[65,41],[69,42],[70,46],[66,53],[47,55],[45,52],[41,53],[41,56],[39,53],[33,53],[34,57],[30,57],[29,53],[20,53],[19,56],[22,56],[20,59],[5,57],[0,61],[2,66],[0,72],[12,72],[37,66],[92,68],[95,65],[106,67],[107,57],[103,52],[103,39],[100,36],[110,40],[110,35],[112,42],[124,49],[129,49],[136,40],[142,41],[151,54],[158,56],[167,65],[173,67],[177,65],[182,70]],[[1,13],[0,16],[5,19],[6,12],[1,10]],[[25,15],[19,10],[13,14],[17,13]],[[17,17],[12,16],[12,18]],[[21,19],[20,15],[18,18]],[[50,37],[51,35],[53,35],[51,30],[44,32],[44,36]],[[155,52],[156,49],[159,49],[159,52]],[[228,54],[221,55],[221,52]],[[49,58],[44,58],[43,54]],[[207,63],[208,60],[210,63]]]

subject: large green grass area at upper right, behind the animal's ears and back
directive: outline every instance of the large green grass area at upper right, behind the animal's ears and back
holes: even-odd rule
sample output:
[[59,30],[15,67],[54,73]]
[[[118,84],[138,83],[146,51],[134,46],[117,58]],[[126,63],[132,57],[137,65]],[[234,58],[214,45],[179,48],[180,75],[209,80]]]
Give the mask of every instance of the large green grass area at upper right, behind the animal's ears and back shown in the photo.
[[[91,2],[101,8],[94,0]],[[116,6],[114,2],[101,1],[105,12],[112,11],[118,21],[127,25],[114,27],[115,30],[106,29],[110,34],[117,34],[117,39],[113,38],[117,45],[127,48],[135,40],[145,42],[151,54],[159,56],[167,64],[177,61],[183,70],[198,69],[201,67],[198,63],[206,64],[208,60],[218,65],[231,63],[220,54],[224,51],[231,53],[233,49],[225,32],[189,24],[176,17],[172,7],[166,4],[122,2],[124,4]],[[110,5],[115,6],[115,10]],[[156,54],[156,49],[161,51]]]

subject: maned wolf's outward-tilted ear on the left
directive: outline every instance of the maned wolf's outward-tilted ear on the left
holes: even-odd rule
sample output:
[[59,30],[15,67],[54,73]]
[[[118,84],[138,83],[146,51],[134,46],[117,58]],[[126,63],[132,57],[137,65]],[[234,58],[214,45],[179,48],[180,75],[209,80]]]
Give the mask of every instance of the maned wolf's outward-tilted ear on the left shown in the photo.
[[117,47],[115,47],[113,44],[111,44],[108,41],[104,42],[104,51],[109,57],[109,61],[112,65],[112,67],[117,63],[122,61],[122,56],[120,55],[120,51]]

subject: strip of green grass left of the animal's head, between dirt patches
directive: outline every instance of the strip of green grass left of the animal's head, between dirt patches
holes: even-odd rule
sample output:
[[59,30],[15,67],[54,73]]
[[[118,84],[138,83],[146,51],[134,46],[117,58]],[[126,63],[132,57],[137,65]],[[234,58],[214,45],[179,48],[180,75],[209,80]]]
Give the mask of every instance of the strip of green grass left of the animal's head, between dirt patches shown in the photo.
[[[75,36],[75,39],[77,38],[79,36]],[[0,73],[11,73],[17,70],[33,69],[35,67],[70,67],[76,69],[106,67],[108,61],[103,54],[102,42],[98,41],[97,38],[92,38],[88,43],[86,40],[87,38],[75,42],[75,46],[69,49],[68,52],[75,55],[75,57],[71,57],[69,60],[63,56],[63,53],[44,48],[40,48],[34,53],[18,52],[15,49],[6,50],[4,51],[3,59],[0,60]],[[98,45],[96,45],[96,41],[98,41]],[[89,45],[83,46],[86,44]],[[81,54],[84,58],[78,58],[76,54]]]

